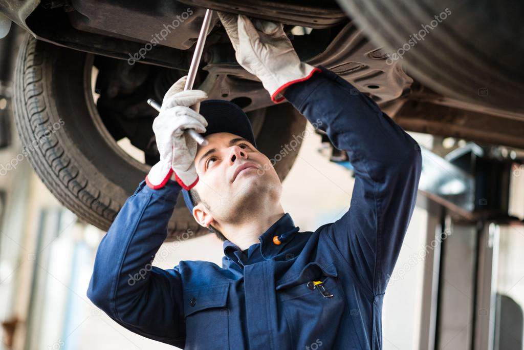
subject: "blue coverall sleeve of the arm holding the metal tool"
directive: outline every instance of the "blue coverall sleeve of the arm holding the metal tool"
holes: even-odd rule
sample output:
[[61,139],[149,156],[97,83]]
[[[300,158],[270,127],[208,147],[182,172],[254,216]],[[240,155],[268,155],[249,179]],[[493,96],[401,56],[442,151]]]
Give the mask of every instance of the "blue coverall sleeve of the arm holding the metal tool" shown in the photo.
[[171,179],[151,189],[141,181],[126,199],[96,252],[88,298],[128,330],[183,347],[182,283],[178,266],[151,266],[181,190]]

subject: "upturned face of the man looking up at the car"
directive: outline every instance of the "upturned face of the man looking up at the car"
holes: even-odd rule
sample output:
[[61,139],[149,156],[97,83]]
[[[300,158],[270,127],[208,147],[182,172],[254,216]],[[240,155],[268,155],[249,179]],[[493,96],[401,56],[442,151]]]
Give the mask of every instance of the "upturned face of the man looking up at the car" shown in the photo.
[[235,134],[205,139],[209,144],[199,145],[195,156],[199,182],[194,188],[201,198],[193,210],[196,221],[217,227],[256,213],[260,206],[280,204],[282,185],[268,157]]

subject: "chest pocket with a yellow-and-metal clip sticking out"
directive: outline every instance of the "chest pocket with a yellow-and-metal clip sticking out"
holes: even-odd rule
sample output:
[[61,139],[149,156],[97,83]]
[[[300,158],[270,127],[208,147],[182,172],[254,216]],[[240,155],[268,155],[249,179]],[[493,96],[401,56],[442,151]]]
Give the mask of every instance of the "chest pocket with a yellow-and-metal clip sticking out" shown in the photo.
[[[319,283],[320,282],[320,283]],[[331,348],[344,313],[345,298],[333,263],[308,263],[285,281],[277,281],[279,308],[289,326],[292,348]]]

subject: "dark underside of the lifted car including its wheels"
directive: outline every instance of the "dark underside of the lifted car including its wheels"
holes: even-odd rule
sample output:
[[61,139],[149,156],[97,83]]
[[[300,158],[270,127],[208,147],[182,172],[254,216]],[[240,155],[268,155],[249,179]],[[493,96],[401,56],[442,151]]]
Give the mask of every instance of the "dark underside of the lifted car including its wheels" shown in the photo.
[[[524,149],[524,25],[517,18],[523,6],[26,0],[0,4],[0,12],[28,32],[14,79],[23,142],[45,138],[29,155],[31,164],[65,206],[107,229],[159,159],[151,129],[158,113],[146,101],[161,101],[187,74],[206,8],[282,22],[301,60],[350,81],[408,131]],[[433,26],[444,12],[461,20],[440,16]],[[409,42],[421,29],[424,40]],[[391,59],[400,49],[405,57]],[[269,157],[306,126],[238,65],[216,12],[194,86],[242,107]],[[57,122],[63,127],[46,133]],[[143,161],[122,150],[123,139],[143,152]],[[297,153],[275,165],[281,179]],[[178,202],[171,237],[188,228],[204,233]]]

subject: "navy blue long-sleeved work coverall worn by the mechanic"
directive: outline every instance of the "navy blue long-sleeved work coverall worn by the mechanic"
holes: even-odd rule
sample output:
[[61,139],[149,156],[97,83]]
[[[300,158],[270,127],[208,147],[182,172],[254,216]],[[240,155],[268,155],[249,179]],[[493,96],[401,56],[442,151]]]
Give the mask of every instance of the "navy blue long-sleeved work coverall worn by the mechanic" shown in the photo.
[[384,292],[415,205],[420,148],[374,101],[318,67],[284,96],[348,152],[347,213],[314,232],[300,232],[286,213],[244,251],[226,240],[222,267],[180,261],[163,270],[150,262],[181,187],[142,181],[97,251],[88,290],[96,306],[128,330],[185,349],[382,348]]

